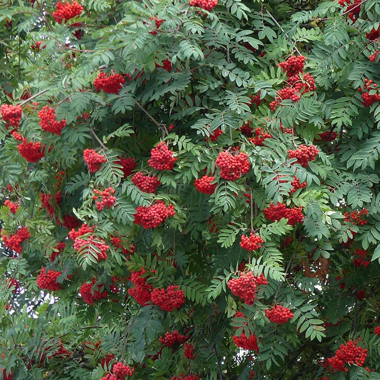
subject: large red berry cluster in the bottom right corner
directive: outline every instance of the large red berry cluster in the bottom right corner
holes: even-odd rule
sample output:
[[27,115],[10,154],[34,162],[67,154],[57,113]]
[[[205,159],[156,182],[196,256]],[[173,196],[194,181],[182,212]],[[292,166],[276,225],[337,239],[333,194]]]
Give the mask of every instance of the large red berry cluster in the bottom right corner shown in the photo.
[[334,371],[346,371],[349,369],[346,368],[347,364],[355,364],[359,367],[363,367],[364,361],[367,357],[367,349],[362,347],[357,347],[358,340],[354,341],[349,340],[347,344],[340,344],[340,347],[336,350],[335,355],[332,358],[327,359],[326,367],[330,366],[331,372]]

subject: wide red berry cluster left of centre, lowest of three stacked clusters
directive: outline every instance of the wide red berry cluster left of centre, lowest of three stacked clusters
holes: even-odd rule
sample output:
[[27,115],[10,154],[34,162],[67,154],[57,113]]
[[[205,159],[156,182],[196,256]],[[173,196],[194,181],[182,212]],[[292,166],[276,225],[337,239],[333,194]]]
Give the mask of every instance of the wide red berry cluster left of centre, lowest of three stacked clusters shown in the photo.
[[139,206],[134,214],[134,223],[143,226],[145,229],[158,227],[166,218],[175,215],[174,205],[169,204],[167,207],[165,202],[157,200],[151,206]]

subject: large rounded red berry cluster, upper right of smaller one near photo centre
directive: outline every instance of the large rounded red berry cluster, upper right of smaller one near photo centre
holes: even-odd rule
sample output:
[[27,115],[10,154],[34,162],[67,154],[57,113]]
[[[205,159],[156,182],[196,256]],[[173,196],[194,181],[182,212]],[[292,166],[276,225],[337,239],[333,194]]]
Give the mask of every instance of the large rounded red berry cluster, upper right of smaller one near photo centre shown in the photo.
[[234,155],[228,152],[221,152],[215,163],[220,167],[220,177],[230,181],[235,181],[244,176],[251,167],[248,155],[241,152]]

